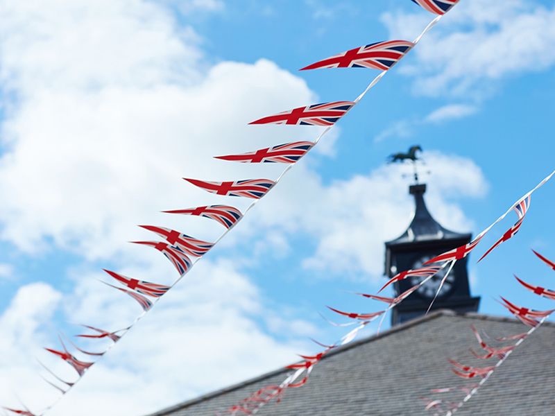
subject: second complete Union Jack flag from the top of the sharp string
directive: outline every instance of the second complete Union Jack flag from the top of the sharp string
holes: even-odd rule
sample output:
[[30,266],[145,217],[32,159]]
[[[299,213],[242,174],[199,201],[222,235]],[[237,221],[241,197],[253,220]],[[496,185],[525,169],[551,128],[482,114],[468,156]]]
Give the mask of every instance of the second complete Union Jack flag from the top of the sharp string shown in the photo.
[[355,105],[352,101],[313,104],[264,117],[249,124],[334,125]]

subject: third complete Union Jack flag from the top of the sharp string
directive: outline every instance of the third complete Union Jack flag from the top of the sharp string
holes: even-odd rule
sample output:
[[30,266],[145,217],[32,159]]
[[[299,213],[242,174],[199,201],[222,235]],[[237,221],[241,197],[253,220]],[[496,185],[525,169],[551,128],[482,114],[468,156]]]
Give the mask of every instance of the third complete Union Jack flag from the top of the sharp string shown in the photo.
[[296,141],[241,155],[216,156],[215,159],[242,163],[295,163],[314,146],[311,141]]

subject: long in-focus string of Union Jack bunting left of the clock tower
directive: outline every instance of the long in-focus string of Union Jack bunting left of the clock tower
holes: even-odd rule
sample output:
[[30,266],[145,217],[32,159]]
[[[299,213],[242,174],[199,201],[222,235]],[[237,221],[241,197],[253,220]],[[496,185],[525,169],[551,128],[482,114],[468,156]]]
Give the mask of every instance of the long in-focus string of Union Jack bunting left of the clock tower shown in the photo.
[[[446,11],[446,10],[445,10]],[[429,24],[426,31],[428,31],[436,22],[432,21]],[[426,32],[425,31],[425,32]],[[422,35],[424,35],[424,33]],[[422,37],[422,35],[420,37]],[[418,40],[420,40],[420,37]],[[184,178],[187,182],[194,184],[196,187],[200,187],[205,191],[215,193],[221,196],[236,196],[244,198],[252,198],[254,201],[248,206],[245,213],[241,213],[239,209],[232,207],[230,205],[210,205],[203,207],[193,207],[188,209],[177,209],[171,211],[164,211],[168,214],[182,214],[190,216],[200,216],[204,218],[210,218],[216,220],[218,223],[225,227],[225,232],[221,234],[219,239],[214,243],[209,243],[206,241],[201,241],[195,239],[194,237],[188,236],[187,234],[180,233],[173,229],[168,229],[165,227],[157,227],[153,225],[141,225],[140,227],[157,234],[164,241],[133,241],[132,243],[144,245],[147,247],[154,248],[164,254],[173,266],[178,271],[179,277],[173,284],[165,286],[162,284],[156,284],[149,281],[142,281],[139,279],[133,279],[131,277],[123,276],[117,272],[112,272],[111,270],[105,270],[115,283],[123,286],[115,286],[106,281],[103,283],[111,288],[125,293],[129,297],[133,298],[139,306],[142,308],[142,313],[137,316],[135,321],[128,327],[123,329],[118,329],[117,331],[108,331],[105,329],[99,329],[93,327],[92,325],[83,325],[85,329],[92,333],[78,334],[77,338],[85,338],[88,340],[111,340],[112,344],[105,349],[103,352],[89,353],[83,349],[80,349],[76,345],[76,350],[85,354],[87,356],[96,356],[97,358],[102,357],[124,336],[132,327],[142,319],[145,313],[147,313],[157,302],[160,297],[167,293],[169,289],[175,286],[180,279],[182,279],[185,274],[194,266],[196,261],[198,261],[204,254],[206,254],[214,244],[218,243],[227,232],[232,229],[237,223],[243,218],[247,211],[252,209],[260,198],[266,195],[270,189],[272,189],[275,184],[277,184],[281,178],[289,171],[289,168],[293,166],[294,163],[298,162],[304,155],[306,155],[311,148],[318,144],[318,141],[330,131],[332,126],[341,119],[354,105],[356,105],[366,93],[382,78],[384,73],[388,69],[391,69],[395,63],[397,63],[408,51],[410,51],[413,46],[418,43],[407,42],[407,41],[390,41],[390,42],[379,42],[375,44],[370,44],[366,46],[361,46],[360,48],[347,51],[343,54],[338,55],[338,57],[330,58],[330,62],[336,60],[336,65],[328,64],[327,67],[361,67],[361,68],[372,68],[379,69],[382,73],[377,76],[366,90],[359,96],[355,101],[337,101],[334,103],[322,103],[316,105],[308,105],[306,107],[300,107],[288,112],[282,112],[276,114],[275,116],[268,116],[262,119],[257,119],[253,121],[252,125],[257,124],[289,124],[289,125],[320,125],[325,126],[326,129],[321,132],[314,142],[312,141],[297,141],[293,143],[281,144],[278,146],[273,146],[271,148],[264,148],[260,150],[255,150],[250,153],[242,153],[239,155],[224,155],[216,156],[216,159],[222,159],[225,161],[233,162],[243,162],[243,163],[283,163],[288,164],[287,168],[284,169],[280,177],[277,180],[268,179],[254,179],[254,180],[236,180],[236,181],[225,181],[225,182],[212,182],[205,180],[197,180],[191,178]],[[342,56],[342,58],[341,58]],[[320,62],[314,64],[312,68],[306,67],[302,70],[316,69],[316,67],[326,67],[325,62]],[[55,374],[46,365],[40,363],[42,368],[48,373],[53,380],[46,379],[45,381],[56,388],[56,390],[62,393],[62,396],[67,394],[71,388],[74,388],[76,383],[85,374],[85,372],[91,367],[94,362],[92,361],[80,361],[73,354],[71,354],[65,345],[63,344],[62,338],[60,338],[60,343],[62,344],[62,351],[58,349],[46,348],[47,352],[54,354],[61,358],[63,361],[69,363],[71,367],[74,367],[78,374],[78,379],[76,381],[65,381],[60,376]],[[28,410],[26,406],[22,404],[23,410],[18,410],[14,408],[6,408],[6,410],[18,414],[18,415],[32,415],[32,416],[42,416],[51,410],[58,401],[54,402],[50,406],[44,408],[40,413],[33,413]]]

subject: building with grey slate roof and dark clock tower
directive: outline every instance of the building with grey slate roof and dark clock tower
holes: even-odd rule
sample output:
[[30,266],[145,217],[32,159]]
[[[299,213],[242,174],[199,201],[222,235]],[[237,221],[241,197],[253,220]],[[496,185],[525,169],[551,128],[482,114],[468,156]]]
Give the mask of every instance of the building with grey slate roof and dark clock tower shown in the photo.
[[[407,231],[386,243],[386,276],[418,267],[432,256],[470,241],[470,234],[452,232],[432,218],[425,205],[425,190],[423,184],[409,189],[416,202],[415,214]],[[431,389],[477,383],[455,376],[447,361],[455,358],[481,367],[496,362],[496,358],[472,357],[469,348],[479,351],[479,345],[471,325],[486,333],[492,345],[501,344],[495,338],[522,333],[525,327],[517,320],[477,313],[479,297],[470,294],[466,261],[457,263],[438,295],[435,310],[426,315],[438,280],[429,281],[395,309],[390,330],[330,352],[305,386],[287,390],[279,404],[268,404],[257,415],[433,415],[435,411],[426,411],[425,401],[420,400],[432,397]],[[402,293],[416,282],[402,281],[395,292]],[[555,415],[554,339],[555,324],[544,324],[456,415]],[[150,416],[214,416],[259,388],[280,384],[288,371],[264,374]],[[456,390],[433,397],[458,402],[465,395]]]

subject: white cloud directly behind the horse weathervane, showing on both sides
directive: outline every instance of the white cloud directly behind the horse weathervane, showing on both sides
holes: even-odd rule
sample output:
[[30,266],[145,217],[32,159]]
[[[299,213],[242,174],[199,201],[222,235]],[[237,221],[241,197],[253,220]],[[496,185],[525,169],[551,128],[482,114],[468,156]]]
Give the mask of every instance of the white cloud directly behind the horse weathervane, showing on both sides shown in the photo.
[[[426,181],[432,215],[447,228],[471,229],[472,223],[450,197],[483,196],[486,184],[480,168],[461,157],[437,153],[424,157],[434,171]],[[386,166],[367,177],[337,182],[326,191],[324,205],[330,207],[329,218],[322,221],[327,227],[319,230],[318,250],[305,266],[381,276],[383,243],[404,232],[413,209],[402,168]]]

